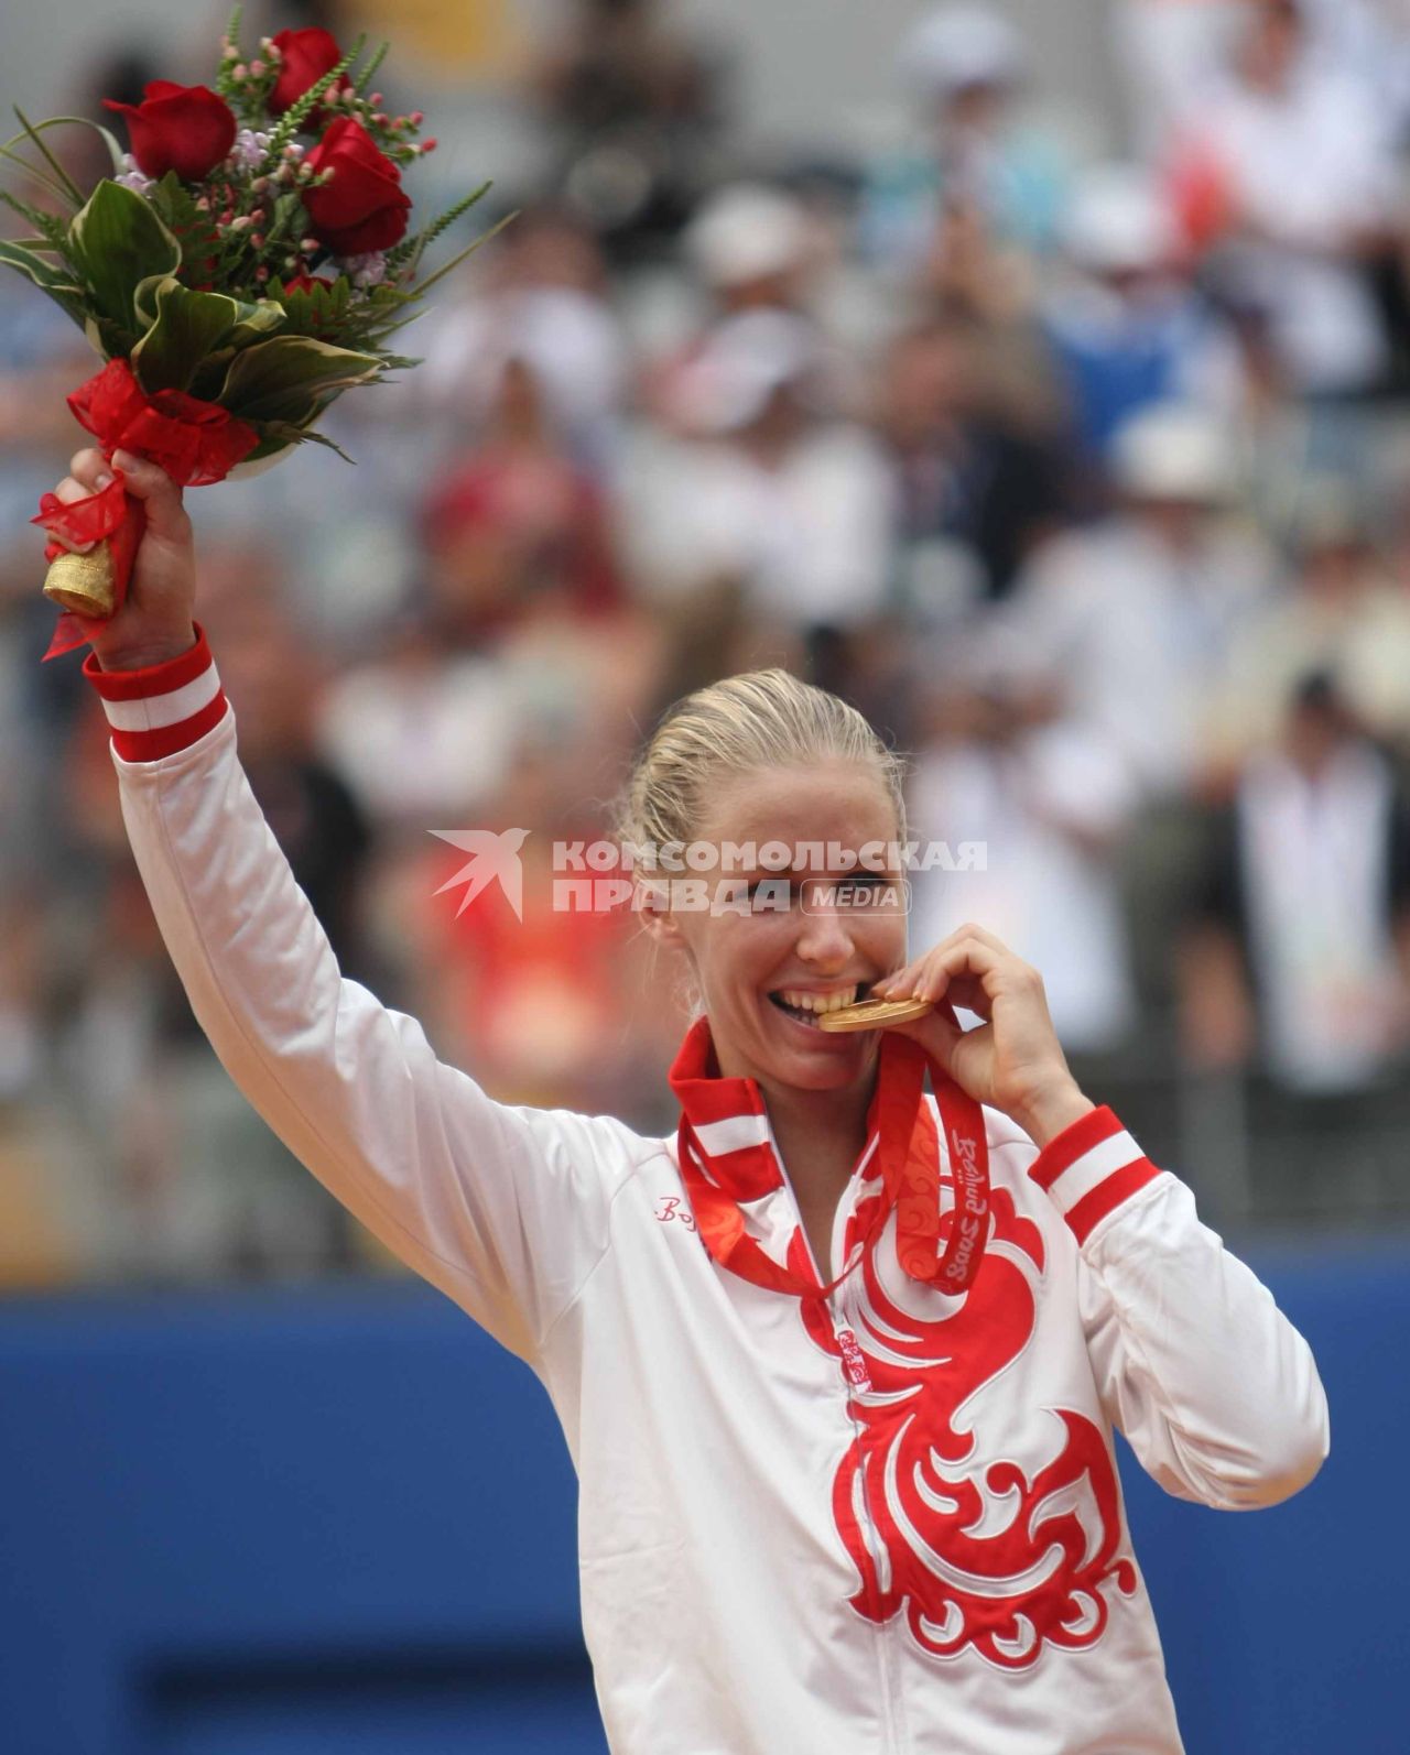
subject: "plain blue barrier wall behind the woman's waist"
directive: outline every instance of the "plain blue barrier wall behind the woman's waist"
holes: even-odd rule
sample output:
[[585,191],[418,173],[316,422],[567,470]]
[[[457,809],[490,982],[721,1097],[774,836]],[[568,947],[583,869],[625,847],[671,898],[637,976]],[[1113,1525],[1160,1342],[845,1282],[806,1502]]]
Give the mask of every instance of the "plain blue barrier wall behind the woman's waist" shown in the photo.
[[[1255,1265],[1333,1457],[1255,1516],[1124,1467],[1185,1739],[1403,1755],[1410,1255]],[[0,1755],[602,1755],[562,1437],[434,1293],[16,1300],[0,1409]]]

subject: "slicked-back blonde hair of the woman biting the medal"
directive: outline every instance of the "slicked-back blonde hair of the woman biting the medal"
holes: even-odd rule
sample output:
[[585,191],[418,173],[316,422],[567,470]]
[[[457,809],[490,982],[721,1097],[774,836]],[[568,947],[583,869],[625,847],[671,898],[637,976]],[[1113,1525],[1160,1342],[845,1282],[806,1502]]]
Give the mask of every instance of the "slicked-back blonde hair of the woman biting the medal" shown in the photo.
[[694,841],[720,776],[813,762],[873,767],[904,841],[904,760],[848,702],[778,669],[711,683],[665,713],[618,804],[618,835],[634,848]]

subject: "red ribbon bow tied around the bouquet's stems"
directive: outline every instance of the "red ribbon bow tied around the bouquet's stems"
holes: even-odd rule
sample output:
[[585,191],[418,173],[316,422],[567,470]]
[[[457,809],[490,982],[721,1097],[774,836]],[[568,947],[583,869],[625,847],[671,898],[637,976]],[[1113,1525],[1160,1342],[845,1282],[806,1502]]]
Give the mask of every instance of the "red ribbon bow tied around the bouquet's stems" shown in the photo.
[[[237,421],[214,402],[200,402],[181,390],[158,390],[149,397],[126,360],[109,360],[102,372],[68,397],[68,407],[98,441],[109,462],[114,451],[132,451],[165,469],[179,488],[205,488],[212,481],[225,481],[235,463],[260,442],[253,426]],[[123,607],[146,512],[142,502],[125,491],[119,470],[86,500],[65,504],[56,493],[46,493],[39,502],[39,516],[30,521],[51,534],[46,560],[58,560],[68,546],[111,539],[116,609]],[[63,542],[53,541],[60,535]],[[63,611],[44,656],[58,658],[60,653],[83,646],[93,627],[91,616]]]

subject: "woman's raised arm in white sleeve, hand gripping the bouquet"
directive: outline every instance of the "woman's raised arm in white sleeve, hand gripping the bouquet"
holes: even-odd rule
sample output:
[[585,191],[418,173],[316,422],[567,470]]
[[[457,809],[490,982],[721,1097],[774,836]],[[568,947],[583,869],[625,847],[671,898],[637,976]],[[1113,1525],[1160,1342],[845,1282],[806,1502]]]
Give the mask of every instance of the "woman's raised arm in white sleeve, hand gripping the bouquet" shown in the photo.
[[[95,476],[76,458],[67,493]],[[84,674],[112,725],[128,835],[197,1020],[314,1176],[532,1362],[608,1248],[639,1143],[611,1120],[493,1102],[437,1060],[413,1018],[342,979],[241,769],[191,623],[190,525],[170,483],[151,476],[162,472],[128,476],[149,490],[147,534],[132,598],[97,630]]]

